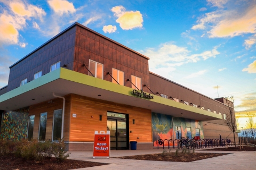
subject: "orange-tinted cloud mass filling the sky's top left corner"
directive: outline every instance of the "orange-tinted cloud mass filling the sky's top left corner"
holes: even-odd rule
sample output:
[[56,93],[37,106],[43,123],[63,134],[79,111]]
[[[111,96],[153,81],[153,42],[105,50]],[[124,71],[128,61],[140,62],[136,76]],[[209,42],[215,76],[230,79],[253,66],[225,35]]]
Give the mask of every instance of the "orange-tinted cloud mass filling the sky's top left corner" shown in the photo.
[[19,45],[19,30],[27,25],[27,20],[46,15],[42,8],[22,1],[3,1],[5,8],[0,14],[0,44]]

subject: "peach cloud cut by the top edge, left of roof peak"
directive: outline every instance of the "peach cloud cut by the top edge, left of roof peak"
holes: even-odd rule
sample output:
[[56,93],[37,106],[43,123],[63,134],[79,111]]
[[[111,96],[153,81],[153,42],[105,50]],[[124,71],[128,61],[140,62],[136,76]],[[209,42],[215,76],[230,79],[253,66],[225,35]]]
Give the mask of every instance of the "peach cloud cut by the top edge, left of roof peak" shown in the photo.
[[66,0],[49,0],[47,1],[53,11],[59,15],[63,13],[74,13],[76,9],[73,3],[70,3]]

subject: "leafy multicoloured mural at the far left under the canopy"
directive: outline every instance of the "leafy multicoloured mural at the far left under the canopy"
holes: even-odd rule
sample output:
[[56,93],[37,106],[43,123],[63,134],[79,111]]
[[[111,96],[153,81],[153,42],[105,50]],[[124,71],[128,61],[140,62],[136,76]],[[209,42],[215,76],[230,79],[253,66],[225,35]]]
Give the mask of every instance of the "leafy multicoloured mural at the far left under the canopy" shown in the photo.
[[28,107],[4,113],[0,127],[0,139],[25,139],[27,135],[28,113]]

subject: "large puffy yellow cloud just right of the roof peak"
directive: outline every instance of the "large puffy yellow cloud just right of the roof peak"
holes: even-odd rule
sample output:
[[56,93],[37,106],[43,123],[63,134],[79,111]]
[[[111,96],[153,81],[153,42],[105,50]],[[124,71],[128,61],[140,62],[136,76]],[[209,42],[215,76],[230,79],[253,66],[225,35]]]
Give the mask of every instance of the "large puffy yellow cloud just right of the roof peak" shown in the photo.
[[139,11],[126,11],[121,5],[111,8],[111,11],[117,17],[116,22],[119,23],[123,30],[142,28],[143,18]]

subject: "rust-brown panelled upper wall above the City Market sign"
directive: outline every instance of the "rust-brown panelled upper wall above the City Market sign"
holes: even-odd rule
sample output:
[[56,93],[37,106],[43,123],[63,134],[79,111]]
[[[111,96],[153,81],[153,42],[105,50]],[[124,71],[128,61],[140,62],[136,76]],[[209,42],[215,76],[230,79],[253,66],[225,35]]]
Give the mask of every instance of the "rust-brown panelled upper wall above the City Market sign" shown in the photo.
[[[125,86],[132,87],[132,84],[126,81],[131,80],[131,75],[141,78],[142,84],[149,86],[147,58],[77,25],[74,71],[89,74],[88,70],[82,66],[85,64],[89,69],[89,60],[103,64],[104,80],[112,81],[107,72],[112,74],[112,68],[115,68],[124,72]],[[149,92],[147,89],[145,91]]]

